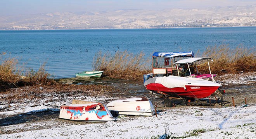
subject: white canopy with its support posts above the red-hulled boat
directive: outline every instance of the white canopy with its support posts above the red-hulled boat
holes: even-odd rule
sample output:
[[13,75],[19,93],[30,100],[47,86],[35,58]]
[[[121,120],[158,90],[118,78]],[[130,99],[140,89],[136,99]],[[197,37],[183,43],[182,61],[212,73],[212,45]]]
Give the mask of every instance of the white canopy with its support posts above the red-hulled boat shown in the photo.
[[[211,68],[210,68],[210,64],[209,64],[210,60],[212,60],[212,59],[211,58],[187,58],[187,59],[179,60],[179,61],[175,62],[174,64],[176,64],[177,71],[179,71],[178,76],[183,75],[183,76],[187,76],[187,77],[195,77],[195,78],[201,78],[204,80],[214,81],[214,77],[217,75],[211,74]],[[208,63],[210,74],[207,74],[207,73],[200,74],[198,72],[198,67],[203,64],[206,64],[206,63],[202,63],[202,61],[206,61],[206,63]],[[182,71],[180,71],[178,69],[178,67],[182,67]],[[194,70],[196,70],[195,74],[194,74]]]

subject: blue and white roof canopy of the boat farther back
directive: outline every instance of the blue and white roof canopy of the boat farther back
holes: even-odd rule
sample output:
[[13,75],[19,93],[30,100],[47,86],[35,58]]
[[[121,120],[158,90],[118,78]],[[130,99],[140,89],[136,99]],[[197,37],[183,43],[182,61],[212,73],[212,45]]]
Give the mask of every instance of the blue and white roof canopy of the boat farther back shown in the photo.
[[191,51],[191,52],[155,52],[153,54],[153,58],[156,58],[156,57],[172,57],[172,58],[175,58],[175,57],[190,57],[192,56],[194,58],[194,52]]

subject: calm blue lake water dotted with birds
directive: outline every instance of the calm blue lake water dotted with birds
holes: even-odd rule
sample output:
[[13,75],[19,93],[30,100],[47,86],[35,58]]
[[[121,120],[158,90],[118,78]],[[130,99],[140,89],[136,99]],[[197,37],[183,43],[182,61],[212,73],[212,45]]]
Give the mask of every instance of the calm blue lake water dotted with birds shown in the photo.
[[54,31],[0,31],[0,60],[16,58],[24,70],[45,69],[54,78],[74,77],[92,70],[95,54],[143,51],[150,58],[155,51],[194,51],[227,44],[255,48],[256,27],[102,29]]

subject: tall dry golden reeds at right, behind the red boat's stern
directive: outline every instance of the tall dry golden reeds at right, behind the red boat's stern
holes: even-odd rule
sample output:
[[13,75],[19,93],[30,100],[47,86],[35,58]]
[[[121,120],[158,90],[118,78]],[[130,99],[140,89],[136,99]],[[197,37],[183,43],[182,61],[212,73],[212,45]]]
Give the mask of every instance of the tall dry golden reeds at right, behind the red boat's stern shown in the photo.
[[[213,58],[211,71],[214,74],[254,72],[256,71],[256,55],[254,49],[238,46],[232,50],[227,45],[207,47],[203,56]],[[205,71],[208,70],[208,65]]]

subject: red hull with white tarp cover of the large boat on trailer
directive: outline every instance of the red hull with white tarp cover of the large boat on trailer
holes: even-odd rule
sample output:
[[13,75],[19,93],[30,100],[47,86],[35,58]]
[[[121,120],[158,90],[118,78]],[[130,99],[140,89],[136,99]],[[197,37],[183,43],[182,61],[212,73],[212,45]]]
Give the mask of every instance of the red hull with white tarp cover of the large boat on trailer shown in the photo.
[[152,77],[144,82],[147,90],[171,97],[205,98],[213,94],[221,84],[200,78],[186,78],[179,76]]

